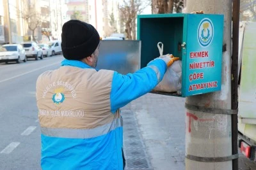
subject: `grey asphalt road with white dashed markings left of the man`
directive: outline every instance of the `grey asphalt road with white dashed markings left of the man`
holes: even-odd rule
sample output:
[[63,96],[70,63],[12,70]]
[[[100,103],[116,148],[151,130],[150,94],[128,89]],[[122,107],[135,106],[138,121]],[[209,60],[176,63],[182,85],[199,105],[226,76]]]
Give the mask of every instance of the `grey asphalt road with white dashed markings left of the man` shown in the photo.
[[36,78],[60,66],[62,55],[0,64],[0,169],[40,169]]

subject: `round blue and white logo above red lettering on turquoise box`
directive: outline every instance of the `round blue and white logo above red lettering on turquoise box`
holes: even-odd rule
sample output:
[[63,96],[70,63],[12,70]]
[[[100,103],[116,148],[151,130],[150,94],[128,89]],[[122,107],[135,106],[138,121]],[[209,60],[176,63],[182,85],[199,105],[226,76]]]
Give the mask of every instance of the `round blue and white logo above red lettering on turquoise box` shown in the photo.
[[209,18],[204,18],[198,25],[197,38],[198,43],[202,47],[206,47],[211,44],[214,34],[214,28],[212,21]]

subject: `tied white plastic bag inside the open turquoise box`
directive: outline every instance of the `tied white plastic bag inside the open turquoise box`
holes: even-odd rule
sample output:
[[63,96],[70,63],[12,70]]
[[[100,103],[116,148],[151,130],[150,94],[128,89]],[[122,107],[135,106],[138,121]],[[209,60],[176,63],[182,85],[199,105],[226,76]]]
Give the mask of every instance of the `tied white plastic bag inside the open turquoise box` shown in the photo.
[[[160,48],[159,46],[160,43],[161,42],[157,43],[157,47],[159,48],[160,55],[163,55],[163,43],[162,48]],[[159,92],[177,92],[178,94],[180,94],[182,80],[181,71],[181,60],[173,62],[173,64],[167,68],[163,80],[158,83],[154,90]]]

